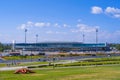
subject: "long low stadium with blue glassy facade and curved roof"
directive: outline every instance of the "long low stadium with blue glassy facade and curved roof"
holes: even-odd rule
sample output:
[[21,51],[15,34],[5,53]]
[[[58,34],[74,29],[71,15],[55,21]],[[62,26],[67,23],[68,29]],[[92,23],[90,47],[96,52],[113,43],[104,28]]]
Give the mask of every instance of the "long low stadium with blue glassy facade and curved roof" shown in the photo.
[[84,52],[84,51],[110,51],[107,43],[81,43],[81,42],[41,42],[16,43],[16,50],[41,52]]

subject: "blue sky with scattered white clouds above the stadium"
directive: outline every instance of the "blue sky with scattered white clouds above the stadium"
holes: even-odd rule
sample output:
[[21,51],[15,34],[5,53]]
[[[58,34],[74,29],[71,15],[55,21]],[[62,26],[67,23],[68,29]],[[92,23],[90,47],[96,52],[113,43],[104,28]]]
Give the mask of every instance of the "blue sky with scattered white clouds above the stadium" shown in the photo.
[[[0,42],[120,43],[120,0],[0,0]],[[36,37],[38,35],[38,37]],[[84,35],[84,38],[83,38]]]

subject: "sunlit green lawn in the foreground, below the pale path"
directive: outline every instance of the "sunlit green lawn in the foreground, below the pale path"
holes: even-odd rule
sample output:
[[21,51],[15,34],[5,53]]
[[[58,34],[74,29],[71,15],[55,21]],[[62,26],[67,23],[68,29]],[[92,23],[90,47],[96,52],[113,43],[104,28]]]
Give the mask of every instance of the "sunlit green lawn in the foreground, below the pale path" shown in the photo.
[[0,80],[120,80],[120,65],[33,70],[32,74],[0,72]]

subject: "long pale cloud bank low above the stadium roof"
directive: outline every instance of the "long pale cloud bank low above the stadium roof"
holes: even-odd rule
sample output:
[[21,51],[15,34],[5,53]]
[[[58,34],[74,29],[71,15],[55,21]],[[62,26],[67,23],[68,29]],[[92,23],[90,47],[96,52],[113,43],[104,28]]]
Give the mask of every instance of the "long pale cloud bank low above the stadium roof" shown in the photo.
[[[119,15],[117,15],[119,17]],[[74,27],[72,27],[74,26]],[[99,26],[91,26],[88,24],[82,24],[81,22],[76,25],[50,23],[50,22],[31,22],[28,21],[25,24],[21,24],[20,29],[31,29],[28,33],[28,39],[31,40],[31,35],[34,33],[42,34],[44,39],[53,40],[58,39],[61,41],[82,41],[82,34],[85,34],[85,42],[95,42],[95,30],[100,28]],[[47,27],[47,28],[46,28]],[[70,28],[68,28],[70,27]],[[34,29],[35,28],[35,29]],[[39,29],[40,28],[40,29]],[[108,32],[99,29],[98,41],[99,42],[119,42],[120,31]],[[15,40],[20,41],[16,38]],[[22,41],[22,40],[21,40]],[[33,40],[34,41],[34,40]]]

